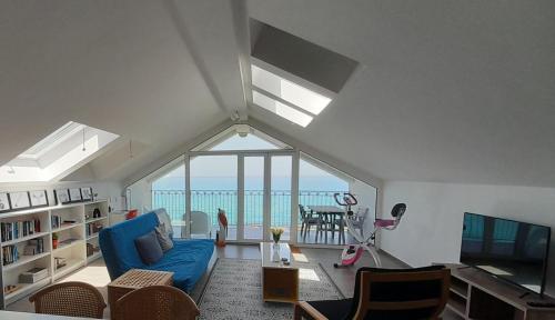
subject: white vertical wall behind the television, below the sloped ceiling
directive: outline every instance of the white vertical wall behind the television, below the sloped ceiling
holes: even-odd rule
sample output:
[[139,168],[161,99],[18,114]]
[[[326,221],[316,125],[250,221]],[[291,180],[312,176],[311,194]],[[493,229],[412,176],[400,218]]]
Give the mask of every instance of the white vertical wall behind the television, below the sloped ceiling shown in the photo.
[[[384,208],[405,202],[400,227],[382,232],[382,249],[416,267],[458,262],[464,212],[552,227],[555,189],[483,184],[386,181]],[[555,234],[552,237],[546,293],[555,296]]]

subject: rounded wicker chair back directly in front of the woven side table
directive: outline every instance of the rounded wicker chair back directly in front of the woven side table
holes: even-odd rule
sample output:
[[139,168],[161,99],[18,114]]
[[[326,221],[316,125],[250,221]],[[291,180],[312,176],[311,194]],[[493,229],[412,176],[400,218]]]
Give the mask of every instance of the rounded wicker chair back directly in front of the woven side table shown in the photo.
[[115,320],[190,320],[200,311],[185,292],[170,286],[137,289],[115,301]]

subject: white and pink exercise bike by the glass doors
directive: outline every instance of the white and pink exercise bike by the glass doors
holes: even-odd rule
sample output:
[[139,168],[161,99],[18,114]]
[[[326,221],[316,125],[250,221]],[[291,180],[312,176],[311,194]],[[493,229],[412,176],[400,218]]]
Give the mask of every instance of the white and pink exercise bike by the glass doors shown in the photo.
[[380,260],[380,256],[377,254],[377,251],[373,243],[376,232],[382,229],[394,230],[395,228],[397,228],[398,223],[401,222],[401,218],[406,211],[406,204],[397,203],[393,207],[393,209],[391,210],[391,216],[393,217],[393,219],[375,219],[374,230],[372,231],[372,233],[370,233],[369,237],[364,238],[363,236],[359,234],[353,227],[353,220],[356,219],[356,216],[354,214],[352,207],[359,203],[356,198],[349,192],[343,193],[342,199],[340,199],[341,193],[335,193],[333,194],[333,197],[335,198],[335,202],[337,202],[339,206],[345,207],[346,214],[343,221],[345,221],[344,223],[347,227],[349,233],[356,240],[356,242],[359,242],[356,244],[347,244],[341,253],[341,262],[334,263],[333,267],[342,268],[353,266],[354,263],[356,263],[356,261],[359,261],[359,259],[361,259],[364,251],[367,251],[370,256],[372,256],[375,267],[382,267],[382,261]]

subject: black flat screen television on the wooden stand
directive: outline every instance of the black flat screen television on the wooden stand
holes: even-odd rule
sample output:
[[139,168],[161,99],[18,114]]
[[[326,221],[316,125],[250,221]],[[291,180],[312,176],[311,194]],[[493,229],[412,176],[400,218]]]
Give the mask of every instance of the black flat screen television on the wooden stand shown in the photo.
[[461,263],[543,296],[551,228],[464,213]]

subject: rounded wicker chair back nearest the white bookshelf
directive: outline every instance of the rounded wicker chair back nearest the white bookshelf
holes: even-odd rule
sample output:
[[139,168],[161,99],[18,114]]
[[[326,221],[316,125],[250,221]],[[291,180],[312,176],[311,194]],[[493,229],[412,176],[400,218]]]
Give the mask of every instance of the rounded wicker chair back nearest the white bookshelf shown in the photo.
[[102,319],[107,307],[97,288],[84,282],[62,282],[47,287],[29,298],[34,312]]

